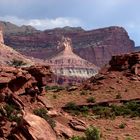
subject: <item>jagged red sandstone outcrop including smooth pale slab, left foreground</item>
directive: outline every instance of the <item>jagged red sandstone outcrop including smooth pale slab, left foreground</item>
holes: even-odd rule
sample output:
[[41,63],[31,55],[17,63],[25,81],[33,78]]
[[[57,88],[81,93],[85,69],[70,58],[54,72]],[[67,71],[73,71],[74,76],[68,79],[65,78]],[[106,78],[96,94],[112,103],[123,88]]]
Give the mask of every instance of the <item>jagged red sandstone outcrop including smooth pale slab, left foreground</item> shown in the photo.
[[47,66],[0,67],[0,137],[56,140],[50,124],[32,112],[36,107],[50,109],[41,89],[51,76]]

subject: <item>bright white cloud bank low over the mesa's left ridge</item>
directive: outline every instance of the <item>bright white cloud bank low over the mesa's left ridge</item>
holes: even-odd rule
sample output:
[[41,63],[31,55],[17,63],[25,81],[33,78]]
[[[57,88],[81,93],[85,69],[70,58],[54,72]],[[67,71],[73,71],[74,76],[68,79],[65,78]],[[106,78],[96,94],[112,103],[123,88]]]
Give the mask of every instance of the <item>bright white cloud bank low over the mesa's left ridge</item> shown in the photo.
[[72,26],[77,27],[82,25],[82,21],[77,18],[70,18],[70,17],[58,17],[54,19],[22,19],[14,16],[5,16],[0,17],[2,21],[9,21],[16,25],[31,25],[37,29],[44,30],[44,29],[52,29],[56,27],[65,27],[65,26]]

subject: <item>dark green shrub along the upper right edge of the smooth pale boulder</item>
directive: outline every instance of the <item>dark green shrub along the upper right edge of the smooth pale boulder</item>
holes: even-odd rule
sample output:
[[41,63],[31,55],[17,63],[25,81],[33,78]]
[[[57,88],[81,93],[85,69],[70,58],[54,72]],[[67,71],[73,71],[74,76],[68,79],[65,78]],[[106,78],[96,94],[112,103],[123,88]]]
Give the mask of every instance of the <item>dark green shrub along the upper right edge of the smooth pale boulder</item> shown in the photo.
[[39,108],[33,110],[33,113],[41,118],[45,119],[52,128],[55,127],[55,121],[47,114],[47,110],[44,108]]

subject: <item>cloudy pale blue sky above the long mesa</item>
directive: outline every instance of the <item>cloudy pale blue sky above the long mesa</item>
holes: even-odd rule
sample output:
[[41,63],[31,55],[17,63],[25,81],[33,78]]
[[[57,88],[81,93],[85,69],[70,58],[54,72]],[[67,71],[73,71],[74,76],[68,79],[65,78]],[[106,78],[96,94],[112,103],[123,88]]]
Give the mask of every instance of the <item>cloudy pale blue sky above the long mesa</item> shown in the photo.
[[124,27],[140,45],[140,0],[0,0],[0,20],[45,30]]

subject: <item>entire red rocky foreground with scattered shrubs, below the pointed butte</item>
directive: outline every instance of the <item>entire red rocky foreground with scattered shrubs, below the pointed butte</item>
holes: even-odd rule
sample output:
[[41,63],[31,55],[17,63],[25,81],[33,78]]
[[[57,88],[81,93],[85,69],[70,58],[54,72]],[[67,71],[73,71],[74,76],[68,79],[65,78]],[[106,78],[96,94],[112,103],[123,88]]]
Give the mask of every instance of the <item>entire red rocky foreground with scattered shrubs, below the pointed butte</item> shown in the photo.
[[101,140],[139,140],[139,62],[140,52],[114,56],[100,74],[66,89],[48,88],[48,66],[0,67],[0,138],[68,140],[93,125]]

